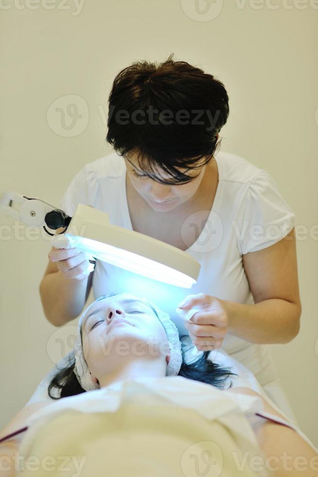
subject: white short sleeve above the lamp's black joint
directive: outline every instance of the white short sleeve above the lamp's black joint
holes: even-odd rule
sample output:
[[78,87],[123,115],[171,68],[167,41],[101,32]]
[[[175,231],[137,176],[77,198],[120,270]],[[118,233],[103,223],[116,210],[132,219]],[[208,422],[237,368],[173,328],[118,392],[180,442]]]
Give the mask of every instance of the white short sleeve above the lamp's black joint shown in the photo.
[[79,203],[94,207],[97,192],[96,172],[89,165],[85,165],[72,179],[60,200],[59,207],[67,215],[73,216]]

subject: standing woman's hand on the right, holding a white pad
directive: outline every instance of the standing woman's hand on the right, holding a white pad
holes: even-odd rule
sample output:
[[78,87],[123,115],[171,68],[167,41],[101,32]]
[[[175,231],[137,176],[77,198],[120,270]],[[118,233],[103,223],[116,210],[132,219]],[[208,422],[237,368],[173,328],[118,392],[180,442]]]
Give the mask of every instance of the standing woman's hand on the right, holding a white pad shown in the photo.
[[200,351],[220,348],[228,327],[226,302],[215,296],[199,293],[186,296],[181,303],[178,308],[182,310],[190,310],[194,307],[200,309],[190,321],[184,321],[196,348]]

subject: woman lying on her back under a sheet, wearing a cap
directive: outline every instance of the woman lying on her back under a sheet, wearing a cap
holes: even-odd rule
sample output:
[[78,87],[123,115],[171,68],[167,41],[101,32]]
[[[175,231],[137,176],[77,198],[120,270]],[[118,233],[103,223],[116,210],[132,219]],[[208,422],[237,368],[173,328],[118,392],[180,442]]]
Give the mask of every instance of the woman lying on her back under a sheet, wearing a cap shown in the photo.
[[[98,298],[79,319],[69,365],[48,386],[52,402],[27,406],[2,431],[2,474],[293,477],[301,456],[301,475],[317,475],[306,436],[257,392],[231,387],[233,373],[209,353],[186,362],[173,321],[148,300]],[[68,468],[57,466],[60,456]],[[26,465],[31,458],[37,468]]]

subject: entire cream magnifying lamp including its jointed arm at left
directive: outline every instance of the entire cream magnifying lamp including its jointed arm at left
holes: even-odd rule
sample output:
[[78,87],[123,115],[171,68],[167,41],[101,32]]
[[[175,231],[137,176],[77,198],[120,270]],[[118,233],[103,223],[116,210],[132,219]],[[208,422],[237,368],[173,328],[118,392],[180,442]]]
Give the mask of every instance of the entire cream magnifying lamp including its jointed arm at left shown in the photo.
[[[16,203],[20,204],[17,210]],[[17,204],[17,205],[18,205]],[[40,199],[6,192],[0,209],[32,227],[43,227],[47,234],[64,228],[74,247],[98,260],[130,272],[182,288],[197,281],[201,265],[190,255],[156,238],[109,223],[106,212],[78,204],[73,217]],[[55,246],[55,245],[54,245]]]

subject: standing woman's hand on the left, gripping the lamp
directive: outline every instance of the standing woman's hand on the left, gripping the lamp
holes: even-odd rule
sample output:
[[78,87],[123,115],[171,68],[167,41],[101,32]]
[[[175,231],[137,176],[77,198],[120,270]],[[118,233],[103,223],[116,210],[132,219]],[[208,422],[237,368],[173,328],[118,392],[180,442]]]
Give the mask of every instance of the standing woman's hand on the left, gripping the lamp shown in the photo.
[[87,254],[77,248],[53,247],[48,257],[51,262],[56,263],[57,268],[66,278],[83,280],[93,269]]

